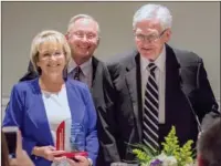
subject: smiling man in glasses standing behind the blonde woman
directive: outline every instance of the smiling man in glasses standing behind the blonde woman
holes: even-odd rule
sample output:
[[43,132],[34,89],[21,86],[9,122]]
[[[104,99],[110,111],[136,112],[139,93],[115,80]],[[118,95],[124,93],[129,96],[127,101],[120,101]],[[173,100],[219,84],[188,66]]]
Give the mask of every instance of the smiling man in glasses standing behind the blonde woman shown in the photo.
[[[99,25],[91,15],[77,14],[70,20],[66,39],[71,46],[72,60],[64,76],[82,81],[88,85],[98,115],[97,134],[99,142],[101,144],[108,142],[108,137],[102,135],[104,126],[102,126],[99,117],[101,114],[112,110],[108,97],[112,82],[106,65],[93,55],[99,43]],[[36,76],[38,73],[34,72],[30,63],[28,73],[20,81],[32,80]],[[102,146],[96,165],[106,165]]]

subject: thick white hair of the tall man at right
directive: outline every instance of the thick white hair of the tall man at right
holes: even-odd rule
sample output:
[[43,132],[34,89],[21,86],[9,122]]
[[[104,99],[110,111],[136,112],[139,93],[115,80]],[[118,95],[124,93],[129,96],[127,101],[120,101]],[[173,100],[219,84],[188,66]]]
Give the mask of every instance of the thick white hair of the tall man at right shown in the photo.
[[168,29],[172,25],[172,15],[167,7],[161,4],[145,4],[134,14],[133,29],[143,20],[159,19],[161,28]]

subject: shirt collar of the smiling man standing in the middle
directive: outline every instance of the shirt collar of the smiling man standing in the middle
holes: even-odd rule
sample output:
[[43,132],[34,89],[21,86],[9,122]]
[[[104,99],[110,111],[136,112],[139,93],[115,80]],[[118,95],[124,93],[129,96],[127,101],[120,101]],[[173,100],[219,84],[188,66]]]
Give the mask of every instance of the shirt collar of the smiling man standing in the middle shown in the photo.
[[[77,64],[75,63],[75,61],[71,59],[67,66],[67,72],[71,73],[76,66]],[[92,71],[92,58],[88,61],[82,63],[80,68],[84,75],[88,75],[88,73]]]

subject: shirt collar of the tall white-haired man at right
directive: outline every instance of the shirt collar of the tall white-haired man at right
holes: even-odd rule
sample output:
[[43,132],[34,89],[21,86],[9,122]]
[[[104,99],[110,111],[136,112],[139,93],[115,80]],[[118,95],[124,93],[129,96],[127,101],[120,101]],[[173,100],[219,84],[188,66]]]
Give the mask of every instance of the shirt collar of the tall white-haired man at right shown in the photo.
[[[166,46],[164,45],[161,53],[155,60],[155,64],[160,70],[160,72],[165,72],[165,62],[166,62]],[[150,61],[148,59],[140,55],[141,72],[147,70],[147,66],[148,66],[149,63],[150,63]]]

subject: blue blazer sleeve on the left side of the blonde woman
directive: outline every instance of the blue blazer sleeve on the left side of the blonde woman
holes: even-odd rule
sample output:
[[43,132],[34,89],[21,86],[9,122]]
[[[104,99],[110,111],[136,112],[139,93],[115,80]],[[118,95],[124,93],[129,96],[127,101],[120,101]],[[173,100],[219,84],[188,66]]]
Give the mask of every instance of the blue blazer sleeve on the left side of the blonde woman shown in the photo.
[[27,138],[23,134],[24,125],[23,118],[25,116],[24,96],[20,92],[19,86],[14,85],[10,96],[10,103],[6,110],[6,116],[3,120],[3,126],[18,126],[23,136],[22,145],[23,149],[31,156],[31,152],[35,146],[35,142]]

